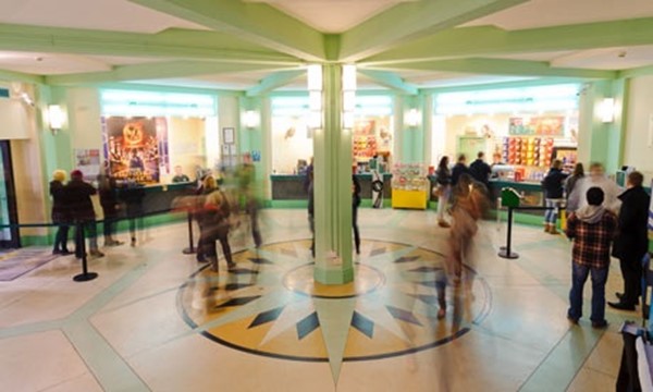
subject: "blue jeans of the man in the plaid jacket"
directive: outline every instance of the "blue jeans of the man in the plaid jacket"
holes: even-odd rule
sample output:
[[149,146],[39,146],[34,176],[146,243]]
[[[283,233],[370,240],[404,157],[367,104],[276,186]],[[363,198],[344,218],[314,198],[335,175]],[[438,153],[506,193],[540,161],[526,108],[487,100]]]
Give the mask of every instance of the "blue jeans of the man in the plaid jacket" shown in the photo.
[[567,316],[575,320],[582,317],[582,289],[592,275],[592,316],[593,322],[605,320],[605,282],[607,282],[608,267],[591,268],[571,262],[571,291],[569,292],[569,311]]

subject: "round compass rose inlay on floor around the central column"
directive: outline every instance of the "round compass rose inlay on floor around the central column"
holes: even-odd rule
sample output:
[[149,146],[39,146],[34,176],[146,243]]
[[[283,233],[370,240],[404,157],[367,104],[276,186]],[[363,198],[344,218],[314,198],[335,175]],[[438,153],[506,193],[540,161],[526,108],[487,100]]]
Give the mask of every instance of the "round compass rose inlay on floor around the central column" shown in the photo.
[[[489,289],[467,268],[463,287],[446,291],[448,315],[438,318],[436,285],[444,284],[439,253],[366,242],[355,283],[328,286],[313,282],[309,246],[296,241],[242,252],[231,273],[201,268],[180,290],[180,311],[215,342],[309,362],[379,359],[435,347],[468,332],[489,311]],[[330,346],[324,333],[346,335],[344,352]]]

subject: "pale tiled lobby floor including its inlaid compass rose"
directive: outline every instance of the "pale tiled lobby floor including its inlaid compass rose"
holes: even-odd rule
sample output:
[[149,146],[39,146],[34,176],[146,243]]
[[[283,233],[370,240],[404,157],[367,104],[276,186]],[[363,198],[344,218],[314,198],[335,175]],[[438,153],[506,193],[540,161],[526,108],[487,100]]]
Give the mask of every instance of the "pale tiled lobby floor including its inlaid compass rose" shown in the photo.
[[[310,268],[304,210],[263,211],[268,245],[239,254],[237,275],[195,274],[204,266],[181,253],[186,226],[175,224],[150,230],[136,248],[107,249],[90,261],[100,274],[90,282],[72,281],[79,270],[73,257],[0,282],[0,390],[614,390],[616,330],[638,315],[607,310],[606,331],[567,322],[566,240],[517,226],[520,258],[505,260],[495,256],[503,224],[484,222],[469,259],[477,271],[471,290],[455,296],[449,287],[452,306],[438,320],[429,282],[447,236],[433,213],[365,209],[359,219],[360,275],[371,283],[340,299],[310,296],[297,284],[310,275],[300,270]],[[238,235],[233,243],[250,245]],[[420,259],[404,262],[411,255]],[[614,264],[607,293],[620,284]],[[434,341],[441,343],[411,354],[352,360]]]

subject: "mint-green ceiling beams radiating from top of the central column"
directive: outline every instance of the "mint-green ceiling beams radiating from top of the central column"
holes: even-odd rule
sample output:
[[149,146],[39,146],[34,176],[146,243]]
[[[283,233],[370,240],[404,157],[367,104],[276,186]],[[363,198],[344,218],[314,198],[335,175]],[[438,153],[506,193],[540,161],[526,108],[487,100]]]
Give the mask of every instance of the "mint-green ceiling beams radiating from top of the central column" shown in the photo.
[[[418,87],[406,72],[596,79],[653,72],[651,66],[600,71],[551,66],[545,61],[491,57],[653,45],[653,19],[504,30],[456,27],[527,0],[420,0],[399,3],[343,34],[322,34],[266,3],[242,0],[130,0],[211,30],[172,28],[158,34],[0,24],[0,50],[157,59],[107,72],[0,78],[52,85],[184,78],[266,72],[250,96],[296,81],[310,62],[356,62],[360,74],[401,94]],[[343,12],[346,12],[344,10]],[[652,61],[653,62],[653,61]]]

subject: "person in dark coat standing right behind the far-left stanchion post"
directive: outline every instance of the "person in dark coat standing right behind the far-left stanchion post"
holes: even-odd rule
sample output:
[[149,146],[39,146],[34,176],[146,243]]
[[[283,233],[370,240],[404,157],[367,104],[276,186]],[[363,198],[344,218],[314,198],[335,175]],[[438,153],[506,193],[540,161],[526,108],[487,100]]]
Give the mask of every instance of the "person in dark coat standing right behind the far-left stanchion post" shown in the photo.
[[85,236],[88,237],[90,256],[104,256],[98,249],[96,215],[90,199],[90,196],[97,194],[96,188],[84,181],[84,174],[81,170],[73,170],[71,181],[65,185],[64,192],[71,209],[71,218],[76,225],[75,256],[77,258],[84,256],[82,249],[84,248]]

